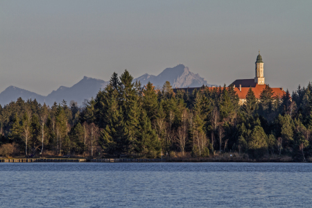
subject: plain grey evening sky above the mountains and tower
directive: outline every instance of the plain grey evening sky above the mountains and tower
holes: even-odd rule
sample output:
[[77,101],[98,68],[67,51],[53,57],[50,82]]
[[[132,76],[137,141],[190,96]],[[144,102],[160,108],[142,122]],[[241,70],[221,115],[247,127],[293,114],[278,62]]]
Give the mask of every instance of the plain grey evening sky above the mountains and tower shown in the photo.
[[312,1],[0,0],[0,92],[46,96],[83,76],[134,78],[184,64],[212,85],[312,81]]

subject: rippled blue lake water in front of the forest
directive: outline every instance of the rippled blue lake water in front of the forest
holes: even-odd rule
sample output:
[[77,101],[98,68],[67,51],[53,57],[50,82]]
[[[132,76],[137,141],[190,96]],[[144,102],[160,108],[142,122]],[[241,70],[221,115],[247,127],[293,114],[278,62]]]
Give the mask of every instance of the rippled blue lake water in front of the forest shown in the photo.
[[0,163],[0,207],[311,207],[306,163]]

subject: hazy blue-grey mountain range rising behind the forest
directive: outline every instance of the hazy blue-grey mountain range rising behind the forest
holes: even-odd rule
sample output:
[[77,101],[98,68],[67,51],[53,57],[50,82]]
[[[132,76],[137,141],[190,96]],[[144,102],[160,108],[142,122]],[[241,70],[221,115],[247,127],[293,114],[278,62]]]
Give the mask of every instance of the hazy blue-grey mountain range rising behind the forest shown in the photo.
[[[172,87],[201,87],[207,85],[207,81],[200,77],[198,73],[189,71],[189,67],[185,67],[183,64],[178,64],[173,68],[166,68],[158,76],[149,75],[145,73],[143,76],[135,78],[139,80],[142,85],[146,85],[148,81],[155,86],[162,87],[166,81],[169,81]],[[0,104],[6,105],[11,101],[16,101],[21,97],[24,101],[28,99],[36,99],[38,103],[46,103],[46,105],[53,105],[54,102],[61,103],[63,99],[69,103],[69,101],[76,101],[78,105],[83,105],[85,99],[89,100],[95,97],[100,89],[104,89],[108,84],[108,81],[84,77],[78,83],[72,87],[61,86],[57,90],[53,90],[49,95],[42,96],[35,92],[30,92],[26,89],[10,86],[0,93]]]

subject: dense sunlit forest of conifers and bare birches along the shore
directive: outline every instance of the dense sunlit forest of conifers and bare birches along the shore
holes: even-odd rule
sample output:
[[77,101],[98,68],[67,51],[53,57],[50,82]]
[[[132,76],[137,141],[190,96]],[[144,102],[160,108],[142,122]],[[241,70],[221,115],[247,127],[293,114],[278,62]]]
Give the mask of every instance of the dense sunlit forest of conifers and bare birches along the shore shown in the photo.
[[0,105],[0,155],[84,157],[209,157],[245,154],[253,159],[312,157],[312,85],[246,102],[232,86],[173,92],[170,83],[141,86],[125,70],[83,107],[40,105],[21,98]]

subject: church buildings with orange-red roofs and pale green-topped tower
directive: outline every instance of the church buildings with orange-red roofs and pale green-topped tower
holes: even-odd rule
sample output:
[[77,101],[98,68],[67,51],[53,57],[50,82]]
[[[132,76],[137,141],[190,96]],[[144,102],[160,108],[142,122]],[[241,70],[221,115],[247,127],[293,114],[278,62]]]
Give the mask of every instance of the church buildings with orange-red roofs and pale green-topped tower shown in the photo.
[[[255,62],[255,77],[252,79],[238,79],[234,80],[234,82],[229,85],[234,87],[234,91],[239,96],[239,103],[242,105],[246,101],[246,96],[248,93],[248,90],[252,89],[254,92],[254,96],[256,96],[257,99],[260,98],[260,94],[263,91],[263,89],[266,87],[266,82],[264,78],[264,67],[263,67],[263,60],[260,55],[257,56],[257,60]],[[209,89],[213,89],[213,87],[209,87]],[[281,87],[271,87],[273,91],[273,96],[281,98],[281,96],[284,95],[284,90]],[[188,87],[188,88],[178,88],[176,87],[173,89],[173,92],[177,92],[178,90],[183,89],[186,92],[193,92],[194,89],[201,90],[202,87]]]

